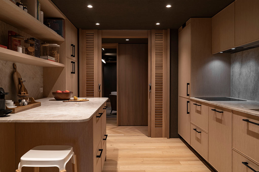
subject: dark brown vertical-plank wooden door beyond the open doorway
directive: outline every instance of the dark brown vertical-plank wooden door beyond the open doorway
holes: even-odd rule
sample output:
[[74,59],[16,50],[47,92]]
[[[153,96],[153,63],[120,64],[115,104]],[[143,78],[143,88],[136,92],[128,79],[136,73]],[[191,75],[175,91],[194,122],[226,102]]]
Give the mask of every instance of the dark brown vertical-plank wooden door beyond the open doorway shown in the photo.
[[148,125],[148,44],[119,44],[117,59],[119,126]]

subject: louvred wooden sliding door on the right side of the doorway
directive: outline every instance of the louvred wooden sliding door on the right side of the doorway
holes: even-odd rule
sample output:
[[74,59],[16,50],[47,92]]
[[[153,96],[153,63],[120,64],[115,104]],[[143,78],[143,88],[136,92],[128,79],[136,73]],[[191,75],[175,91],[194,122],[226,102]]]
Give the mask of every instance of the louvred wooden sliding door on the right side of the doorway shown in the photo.
[[169,138],[169,40],[169,29],[151,30],[151,137]]

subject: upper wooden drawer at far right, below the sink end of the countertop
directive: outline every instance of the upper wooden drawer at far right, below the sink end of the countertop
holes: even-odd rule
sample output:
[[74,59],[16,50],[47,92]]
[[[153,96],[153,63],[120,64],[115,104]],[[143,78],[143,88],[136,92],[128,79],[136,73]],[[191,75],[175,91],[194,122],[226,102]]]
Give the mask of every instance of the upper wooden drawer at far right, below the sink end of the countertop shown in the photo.
[[233,147],[259,163],[259,117],[233,111]]

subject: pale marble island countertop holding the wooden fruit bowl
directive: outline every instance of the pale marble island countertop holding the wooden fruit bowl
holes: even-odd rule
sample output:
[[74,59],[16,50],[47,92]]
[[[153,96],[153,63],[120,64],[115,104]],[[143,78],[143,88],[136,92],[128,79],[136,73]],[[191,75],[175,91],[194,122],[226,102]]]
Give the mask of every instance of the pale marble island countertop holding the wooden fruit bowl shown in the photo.
[[0,122],[85,122],[89,121],[108,98],[87,98],[83,102],[57,101],[53,97],[38,99],[41,106],[0,117]]

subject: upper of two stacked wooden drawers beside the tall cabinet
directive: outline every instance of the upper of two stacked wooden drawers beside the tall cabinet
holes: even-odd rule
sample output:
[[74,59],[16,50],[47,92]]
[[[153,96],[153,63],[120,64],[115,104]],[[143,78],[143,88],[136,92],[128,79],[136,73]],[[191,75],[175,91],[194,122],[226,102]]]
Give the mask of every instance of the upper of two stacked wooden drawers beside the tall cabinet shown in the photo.
[[191,122],[208,132],[208,104],[191,101]]

